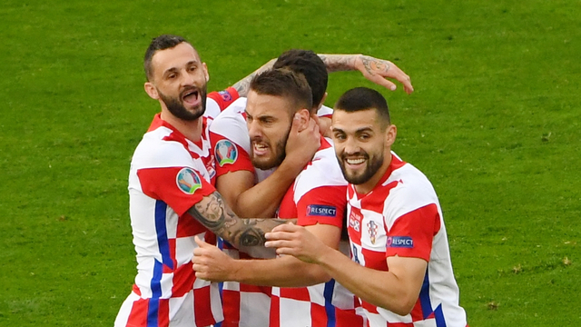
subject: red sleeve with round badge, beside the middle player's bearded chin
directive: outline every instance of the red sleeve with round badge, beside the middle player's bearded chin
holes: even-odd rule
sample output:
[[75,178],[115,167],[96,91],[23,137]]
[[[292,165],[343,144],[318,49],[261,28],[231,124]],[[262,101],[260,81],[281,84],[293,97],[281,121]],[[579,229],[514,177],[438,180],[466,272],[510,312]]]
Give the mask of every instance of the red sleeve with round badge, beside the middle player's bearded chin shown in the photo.
[[240,170],[254,173],[251,157],[240,145],[212,132],[210,132],[210,142],[216,161],[216,176]]

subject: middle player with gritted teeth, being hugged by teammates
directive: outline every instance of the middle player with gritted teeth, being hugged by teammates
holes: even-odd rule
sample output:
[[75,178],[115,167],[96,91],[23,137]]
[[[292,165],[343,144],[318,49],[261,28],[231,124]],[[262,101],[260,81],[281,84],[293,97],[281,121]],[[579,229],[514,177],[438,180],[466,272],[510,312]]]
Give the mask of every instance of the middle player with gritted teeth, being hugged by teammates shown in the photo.
[[[275,69],[258,74],[251,81],[245,113],[254,166],[276,167],[283,158],[284,146],[279,144],[284,144],[293,117],[298,116],[301,125],[313,119],[310,88],[306,81],[300,82],[304,80],[301,75],[293,75],[289,70]],[[297,223],[307,226],[323,243],[338,249],[347,204],[346,186],[332,144],[321,137],[320,148],[284,195],[277,217],[296,217]],[[199,245],[192,259],[199,278],[241,282],[241,286],[276,286],[271,292],[272,327],[364,325],[363,317],[356,312],[358,302],[354,295],[315,265],[291,256],[234,260],[210,244]],[[348,246],[343,250],[349,255]],[[255,308],[258,304],[245,303],[254,312],[261,312],[263,308]],[[227,317],[225,323],[230,323]]]

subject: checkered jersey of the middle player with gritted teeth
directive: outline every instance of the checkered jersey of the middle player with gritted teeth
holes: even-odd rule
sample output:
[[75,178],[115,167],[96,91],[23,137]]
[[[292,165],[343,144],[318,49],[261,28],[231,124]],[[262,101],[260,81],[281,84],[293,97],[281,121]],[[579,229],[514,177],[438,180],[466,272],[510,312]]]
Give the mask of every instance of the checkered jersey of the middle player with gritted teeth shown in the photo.
[[[297,217],[302,226],[320,223],[342,228],[346,188],[335,151],[330,141],[321,138],[319,151],[285,194],[278,215]],[[357,298],[334,280],[309,287],[273,287],[271,327],[363,326],[358,307]]]

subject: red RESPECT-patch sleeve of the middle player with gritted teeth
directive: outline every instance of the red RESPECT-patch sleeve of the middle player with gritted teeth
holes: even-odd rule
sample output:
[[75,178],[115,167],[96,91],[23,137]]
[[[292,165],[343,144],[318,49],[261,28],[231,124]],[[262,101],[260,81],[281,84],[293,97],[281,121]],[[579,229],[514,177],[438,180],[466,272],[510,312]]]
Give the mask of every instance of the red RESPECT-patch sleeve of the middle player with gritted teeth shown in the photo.
[[321,186],[305,193],[297,203],[297,224],[322,223],[342,228],[347,207],[346,192],[347,186]]

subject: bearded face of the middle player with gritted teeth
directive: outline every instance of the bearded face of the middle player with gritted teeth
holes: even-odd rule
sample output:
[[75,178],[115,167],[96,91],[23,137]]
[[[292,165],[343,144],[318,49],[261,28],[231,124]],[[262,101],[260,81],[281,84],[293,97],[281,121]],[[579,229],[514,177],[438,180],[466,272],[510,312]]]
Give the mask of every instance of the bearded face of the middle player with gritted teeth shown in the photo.
[[294,112],[292,105],[281,96],[249,92],[246,124],[251,138],[251,161],[256,168],[271,169],[284,160]]

